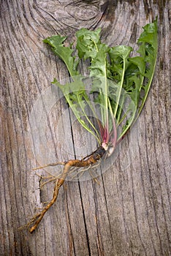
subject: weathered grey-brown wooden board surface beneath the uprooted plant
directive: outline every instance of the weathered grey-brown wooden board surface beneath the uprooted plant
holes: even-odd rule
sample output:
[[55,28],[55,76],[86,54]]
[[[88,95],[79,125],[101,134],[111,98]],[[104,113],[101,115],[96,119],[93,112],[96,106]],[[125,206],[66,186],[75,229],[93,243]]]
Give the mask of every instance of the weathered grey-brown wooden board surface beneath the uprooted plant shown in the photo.
[[[171,255],[170,1],[1,0],[0,10],[0,255]],[[42,115],[47,102],[40,96],[47,95],[53,77],[68,76],[42,39],[59,33],[70,41],[81,27],[102,27],[107,44],[134,46],[141,27],[156,15],[159,56],[135,126],[137,139],[130,142],[131,132],[117,160],[99,176],[99,185],[66,182],[36,232],[18,231],[53,191],[47,184],[40,192],[40,178],[30,169],[73,157],[74,150],[81,155],[96,148],[72,121],[64,99],[57,99],[58,92]],[[36,113],[45,125],[42,140],[31,130],[37,100],[44,106]]]

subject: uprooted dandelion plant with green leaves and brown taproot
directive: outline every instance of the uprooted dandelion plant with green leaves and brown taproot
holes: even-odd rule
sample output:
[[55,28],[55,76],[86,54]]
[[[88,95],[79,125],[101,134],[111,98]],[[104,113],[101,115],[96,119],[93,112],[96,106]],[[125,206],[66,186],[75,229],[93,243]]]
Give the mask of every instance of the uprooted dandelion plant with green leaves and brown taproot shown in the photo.
[[[83,159],[70,159],[51,165],[64,165],[61,176],[56,178],[53,199],[29,223],[32,233],[46,211],[53,206],[58,189],[73,167],[94,166],[102,157],[113,154],[115,147],[132,127],[142,111],[151,87],[157,57],[157,19],[145,25],[137,40],[136,56],[126,45],[110,47],[101,42],[101,29],[76,32],[77,42],[65,46],[66,37],[54,35],[43,42],[50,45],[69,72],[70,80],[53,84],[61,89],[77,121],[96,138],[99,147]],[[79,70],[80,61],[86,61],[88,79]],[[92,97],[94,100],[92,100]],[[96,125],[87,109],[96,119]]]

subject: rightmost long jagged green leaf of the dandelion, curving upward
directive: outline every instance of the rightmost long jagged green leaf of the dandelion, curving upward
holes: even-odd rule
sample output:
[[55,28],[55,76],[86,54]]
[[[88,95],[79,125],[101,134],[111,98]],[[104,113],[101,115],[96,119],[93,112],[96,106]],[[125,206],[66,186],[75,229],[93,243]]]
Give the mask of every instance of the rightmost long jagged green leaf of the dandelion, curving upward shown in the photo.
[[137,53],[140,53],[141,56],[128,59],[129,64],[127,65],[124,77],[125,83],[123,82],[123,88],[129,93],[137,109],[132,111],[132,118],[126,121],[119,138],[126,134],[127,130],[140,116],[151,87],[158,50],[157,19],[144,27],[144,31],[137,42],[140,45]]

